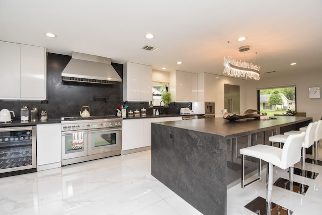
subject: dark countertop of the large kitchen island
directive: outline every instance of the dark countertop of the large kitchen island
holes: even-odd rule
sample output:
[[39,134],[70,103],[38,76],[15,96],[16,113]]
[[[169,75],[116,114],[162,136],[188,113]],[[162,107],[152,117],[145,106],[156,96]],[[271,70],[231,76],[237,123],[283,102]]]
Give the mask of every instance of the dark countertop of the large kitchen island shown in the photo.
[[295,122],[305,122],[308,120],[312,120],[312,118],[280,116],[277,117],[276,120],[260,120],[250,118],[236,121],[228,121],[222,118],[205,118],[189,121],[160,122],[159,124],[220,135],[226,138],[234,138],[238,136],[244,136],[261,131],[267,131],[270,129],[292,125]]

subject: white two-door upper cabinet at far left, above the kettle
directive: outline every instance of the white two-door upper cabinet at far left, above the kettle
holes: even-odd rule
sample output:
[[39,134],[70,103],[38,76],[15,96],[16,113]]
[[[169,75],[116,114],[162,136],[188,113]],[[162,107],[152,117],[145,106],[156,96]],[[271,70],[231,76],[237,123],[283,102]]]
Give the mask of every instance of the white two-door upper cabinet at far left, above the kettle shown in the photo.
[[0,41],[0,98],[46,98],[44,47]]

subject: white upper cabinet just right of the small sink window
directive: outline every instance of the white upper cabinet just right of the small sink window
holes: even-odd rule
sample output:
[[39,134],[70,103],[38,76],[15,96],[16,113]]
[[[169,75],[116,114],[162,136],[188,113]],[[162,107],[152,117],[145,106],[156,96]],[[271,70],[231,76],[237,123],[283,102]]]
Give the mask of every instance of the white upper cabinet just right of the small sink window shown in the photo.
[[198,74],[183,71],[170,72],[170,92],[173,101],[198,100]]

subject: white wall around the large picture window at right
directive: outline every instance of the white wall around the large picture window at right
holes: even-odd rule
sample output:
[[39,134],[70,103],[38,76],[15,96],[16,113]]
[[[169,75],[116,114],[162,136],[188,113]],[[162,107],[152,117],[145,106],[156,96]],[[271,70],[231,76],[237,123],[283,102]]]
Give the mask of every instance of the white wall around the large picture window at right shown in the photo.
[[[272,88],[280,86],[296,86],[296,109],[298,112],[305,112],[306,117],[313,117],[317,121],[322,116],[322,98],[309,98],[308,88],[313,86],[322,86],[322,73],[314,72],[306,75],[302,74],[288,75],[283,77],[266,78],[261,80],[247,81],[247,104],[257,107],[257,89]],[[241,89],[240,89],[241,91]],[[240,97],[240,101],[241,101]]]

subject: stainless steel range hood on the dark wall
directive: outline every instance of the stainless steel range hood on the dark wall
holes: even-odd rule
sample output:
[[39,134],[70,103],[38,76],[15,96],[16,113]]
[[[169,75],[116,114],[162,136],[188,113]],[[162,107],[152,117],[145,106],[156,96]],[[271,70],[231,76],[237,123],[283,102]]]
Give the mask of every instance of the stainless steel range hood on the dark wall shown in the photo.
[[71,59],[61,73],[63,81],[116,84],[122,82],[111,59],[71,52]]

